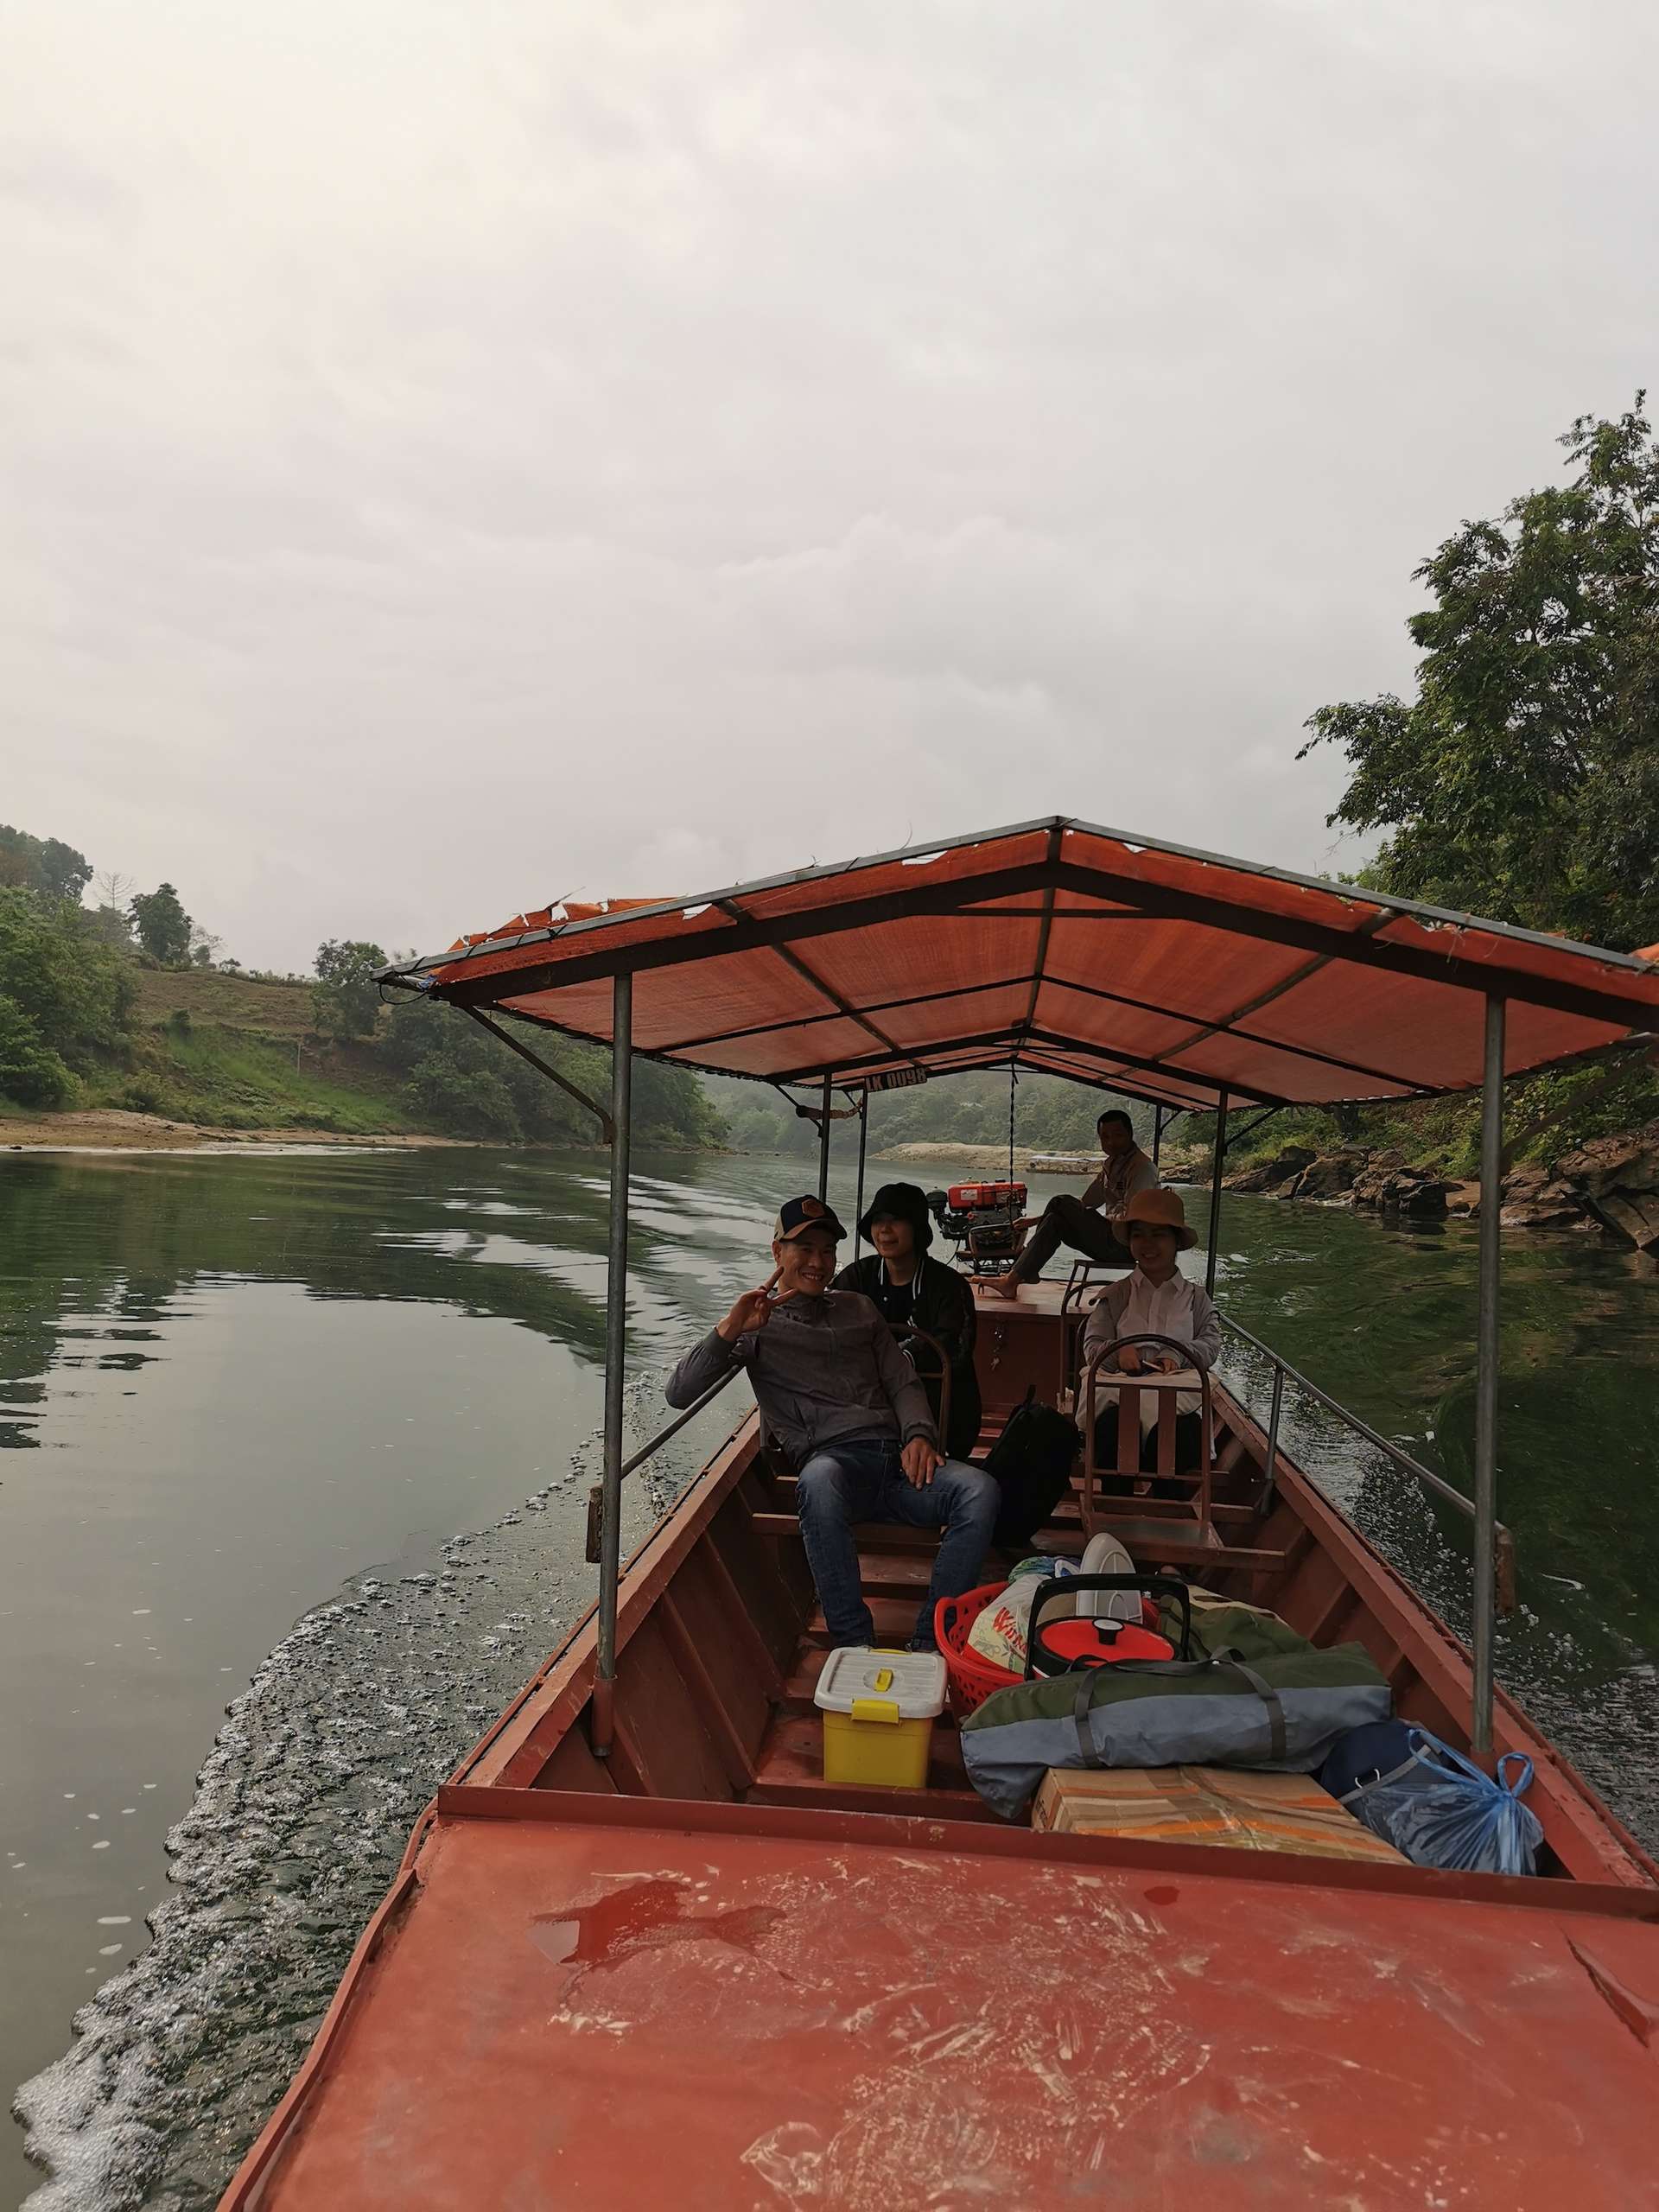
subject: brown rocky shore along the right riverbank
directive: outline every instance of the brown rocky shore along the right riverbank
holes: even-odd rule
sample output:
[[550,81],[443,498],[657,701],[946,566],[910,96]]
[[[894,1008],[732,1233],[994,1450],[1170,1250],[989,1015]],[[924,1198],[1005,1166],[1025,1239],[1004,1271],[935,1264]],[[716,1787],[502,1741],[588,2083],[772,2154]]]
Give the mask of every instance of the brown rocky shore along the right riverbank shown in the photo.
[[[1471,1219],[1480,1212],[1480,1183],[1416,1168],[1394,1148],[1316,1152],[1307,1144],[1285,1144],[1272,1159],[1225,1175],[1221,1188],[1380,1214]],[[1613,1234],[1659,1256],[1659,1121],[1619,1137],[1593,1137],[1551,1164],[1511,1168],[1500,1221],[1506,1230]]]

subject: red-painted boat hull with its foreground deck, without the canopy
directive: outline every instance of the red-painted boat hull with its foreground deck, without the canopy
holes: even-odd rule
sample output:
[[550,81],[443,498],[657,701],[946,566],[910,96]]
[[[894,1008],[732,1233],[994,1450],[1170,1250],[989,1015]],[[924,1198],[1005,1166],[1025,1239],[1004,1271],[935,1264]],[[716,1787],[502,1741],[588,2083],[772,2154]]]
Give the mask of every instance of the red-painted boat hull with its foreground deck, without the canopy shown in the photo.
[[[538,929],[482,942],[513,975]],[[1491,975],[1491,942],[1464,953]],[[1601,1026],[1619,991],[1628,1029],[1659,1004],[1613,956],[1582,989]],[[975,1294],[989,1442],[1029,1383],[1073,1385],[1082,1307]],[[1139,1515],[1144,1562],[1363,1641],[1402,1717],[1533,1759],[1540,1878],[1009,1827],[949,1721],[925,1790],[825,1783],[823,1619],[750,1411],[422,1814],[226,2205],[1659,2203],[1659,1869],[1515,1703],[1482,1714],[1475,1655],[1274,1431],[1217,1385],[1203,1513],[1079,1478],[1040,1542]],[[622,1475],[617,1427],[613,1544]],[[860,1531],[880,1635],[929,1548]]]

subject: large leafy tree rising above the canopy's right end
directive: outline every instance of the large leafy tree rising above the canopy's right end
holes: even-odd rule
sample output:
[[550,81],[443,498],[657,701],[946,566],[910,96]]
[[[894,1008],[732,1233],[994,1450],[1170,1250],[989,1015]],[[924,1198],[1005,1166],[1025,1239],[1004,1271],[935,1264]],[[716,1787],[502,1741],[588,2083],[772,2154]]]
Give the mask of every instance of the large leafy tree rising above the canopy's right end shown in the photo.
[[1321,708],[1332,823],[1387,830],[1376,889],[1617,949],[1659,938],[1659,445],[1637,394],[1559,440],[1566,484],[1464,522],[1416,571],[1411,703]]

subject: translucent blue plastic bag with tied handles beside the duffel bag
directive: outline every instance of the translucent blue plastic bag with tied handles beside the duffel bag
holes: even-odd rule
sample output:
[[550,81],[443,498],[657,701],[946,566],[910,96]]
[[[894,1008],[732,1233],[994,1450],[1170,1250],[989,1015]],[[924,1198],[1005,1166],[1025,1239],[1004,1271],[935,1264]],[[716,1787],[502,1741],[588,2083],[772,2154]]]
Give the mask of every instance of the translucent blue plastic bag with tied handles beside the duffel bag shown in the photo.
[[[1411,1728],[1405,1739],[1407,1756],[1398,1765],[1340,1792],[1354,1818],[1402,1851],[1413,1867],[1531,1874],[1544,1840],[1537,1814],[1522,1805],[1533,1761],[1522,1752],[1506,1752],[1493,1781],[1427,1728]],[[1332,1756],[1340,1750],[1338,1745]]]

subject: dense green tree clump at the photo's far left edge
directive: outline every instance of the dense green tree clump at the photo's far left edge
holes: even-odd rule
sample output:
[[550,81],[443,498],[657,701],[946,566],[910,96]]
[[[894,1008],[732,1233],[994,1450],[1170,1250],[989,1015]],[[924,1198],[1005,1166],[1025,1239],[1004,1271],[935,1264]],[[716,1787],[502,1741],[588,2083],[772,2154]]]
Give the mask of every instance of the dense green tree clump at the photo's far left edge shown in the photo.
[[60,1106],[73,1071],[126,1046],[133,980],[91,916],[0,889],[0,1093]]

